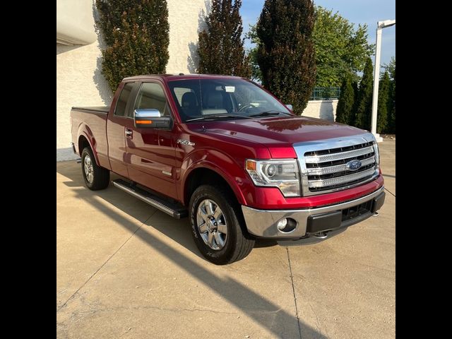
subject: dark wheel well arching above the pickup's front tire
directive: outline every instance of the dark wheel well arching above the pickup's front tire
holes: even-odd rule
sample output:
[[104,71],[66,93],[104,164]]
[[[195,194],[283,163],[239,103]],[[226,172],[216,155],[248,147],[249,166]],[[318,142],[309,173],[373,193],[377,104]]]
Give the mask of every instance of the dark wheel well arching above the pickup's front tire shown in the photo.
[[207,168],[198,168],[194,169],[193,172],[189,174],[189,177],[186,179],[185,188],[184,188],[184,204],[185,206],[189,206],[191,194],[201,185],[210,184],[212,186],[221,185],[225,187],[228,191],[230,191],[231,196],[237,198],[232,191],[231,186],[227,183],[227,181],[217,172],[214,172],[212,169]]

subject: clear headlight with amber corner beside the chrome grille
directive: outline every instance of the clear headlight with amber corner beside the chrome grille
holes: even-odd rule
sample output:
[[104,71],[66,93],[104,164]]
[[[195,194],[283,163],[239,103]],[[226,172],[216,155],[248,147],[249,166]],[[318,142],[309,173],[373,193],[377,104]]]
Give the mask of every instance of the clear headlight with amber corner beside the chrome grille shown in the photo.
[[246,172],[256,186],[278,187],[284,196],[301,196],[297,160],[251,160]]

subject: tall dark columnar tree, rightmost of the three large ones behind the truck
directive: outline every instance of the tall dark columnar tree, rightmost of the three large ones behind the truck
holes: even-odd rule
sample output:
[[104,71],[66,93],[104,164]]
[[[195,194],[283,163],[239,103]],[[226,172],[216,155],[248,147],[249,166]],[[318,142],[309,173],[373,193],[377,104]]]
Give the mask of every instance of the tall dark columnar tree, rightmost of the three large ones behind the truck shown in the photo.
[[266,0],[256,25],[262,83],[302,114],[316,81],[311,0]]

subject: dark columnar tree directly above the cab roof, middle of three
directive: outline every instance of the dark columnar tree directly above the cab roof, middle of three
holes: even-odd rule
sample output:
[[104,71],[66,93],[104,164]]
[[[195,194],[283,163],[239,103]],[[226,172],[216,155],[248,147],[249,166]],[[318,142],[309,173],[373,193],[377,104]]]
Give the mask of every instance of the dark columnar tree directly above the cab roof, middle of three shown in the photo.
[[242,0],[213,0],[206,18],[207,29],[199,32],[199,73],[251,76],[249,57],[242,39]]

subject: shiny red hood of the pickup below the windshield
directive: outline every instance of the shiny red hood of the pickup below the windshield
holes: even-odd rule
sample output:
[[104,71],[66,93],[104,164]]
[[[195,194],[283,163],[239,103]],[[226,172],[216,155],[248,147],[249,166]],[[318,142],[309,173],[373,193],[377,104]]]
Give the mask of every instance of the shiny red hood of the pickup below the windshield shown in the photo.
[[208,121],[194,125],[190,129],[203,126],[203,132],[213,136],[232,136],[268,147],[291,146],[294,143],[354,136],[364,132],[352,126],[308,117]]

